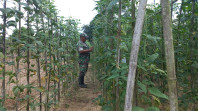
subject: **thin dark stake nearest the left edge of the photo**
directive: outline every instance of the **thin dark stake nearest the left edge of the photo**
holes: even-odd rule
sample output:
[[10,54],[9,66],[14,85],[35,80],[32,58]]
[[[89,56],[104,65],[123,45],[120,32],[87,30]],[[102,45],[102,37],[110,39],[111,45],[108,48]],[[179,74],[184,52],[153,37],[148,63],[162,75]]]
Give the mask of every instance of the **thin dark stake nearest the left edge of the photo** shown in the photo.
[[[6,9],[6,3],[7,3],[7,0],[4,0],[4,9]],[[5,58],[6,58],[6,19],[7,19],[7,15],[6,13],[3,13],[3,82],[2,82],[2,105],[4,105],[5,103],[5,93],[6,93],[6,89],[5,89]]]

